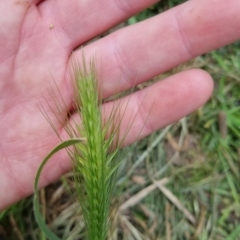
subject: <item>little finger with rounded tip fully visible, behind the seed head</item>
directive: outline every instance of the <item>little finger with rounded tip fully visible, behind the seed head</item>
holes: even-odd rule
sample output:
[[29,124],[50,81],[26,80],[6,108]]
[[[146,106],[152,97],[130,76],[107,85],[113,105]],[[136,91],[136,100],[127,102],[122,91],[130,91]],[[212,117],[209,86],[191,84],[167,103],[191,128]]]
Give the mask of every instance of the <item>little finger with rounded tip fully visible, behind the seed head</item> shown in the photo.
[[[208,73],[189,70],[138,91],[130,98],[107,103],[103,105],[103,112],[109,115],[113,106],[123,108],[120,135],[123,137],[128,129],[124,140],[124,145],[128,145],[196,110],[208,100],[212,90],[213,82]],[[76,122],[80,122],[77,114],[72,116],[70,125]],[[66,139],[67,133],[62,134]]]

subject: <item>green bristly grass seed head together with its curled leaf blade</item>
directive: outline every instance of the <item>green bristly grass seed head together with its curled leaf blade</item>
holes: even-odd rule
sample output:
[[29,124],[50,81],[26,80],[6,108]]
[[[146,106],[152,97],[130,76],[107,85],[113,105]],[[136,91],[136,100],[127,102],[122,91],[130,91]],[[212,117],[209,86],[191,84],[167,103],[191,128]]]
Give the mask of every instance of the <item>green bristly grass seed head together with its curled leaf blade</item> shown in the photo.
[[[121,162],[117,156],[127,131],[120,139],[122,106],[113,103],[108,119],[103,120],[98,84],[93,61],[89,68],[85,61],[82,67],[79,64],[74,65],[75,106],[80,122],[75,121],[72,125],[66,125],[70,139],[62,141],[45,157],[36,174],[34,213],[39,227],[51,240],[59,240],[59,238],[48,229],[41,217],[38,183],[42,169],[48,160],[64,148],[73,163],[76,196],[85,222],[86,239],[106,240],[112,230],[109,226],[110,219],[113,217],[110,205],[116,185],[116,173]],[[61,108],[60,105],[57,102],[58,108]],[[126,107],[124,107],[125,110]],[[52,125],[48,117],[47,120]]]

